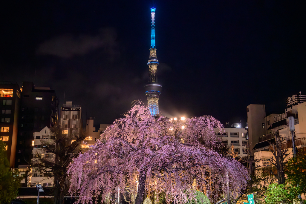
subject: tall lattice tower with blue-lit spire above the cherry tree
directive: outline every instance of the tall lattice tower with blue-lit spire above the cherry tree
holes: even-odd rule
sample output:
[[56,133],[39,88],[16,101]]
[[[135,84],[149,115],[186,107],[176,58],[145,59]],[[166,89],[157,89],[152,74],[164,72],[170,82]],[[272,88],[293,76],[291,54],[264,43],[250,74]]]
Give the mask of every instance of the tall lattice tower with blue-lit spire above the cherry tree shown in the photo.
[[151,48],[150,48],[150,58],[147,65],[149,66],[149,83],[144,86],[145,93],[148,100],[148,108],[152,115],[159,115],[158,100],[159,95],[162,91],[162,86],[157,83],[157,66],[159,65],[158,59],[156,57],[155,48],[155,8],[151,8]]

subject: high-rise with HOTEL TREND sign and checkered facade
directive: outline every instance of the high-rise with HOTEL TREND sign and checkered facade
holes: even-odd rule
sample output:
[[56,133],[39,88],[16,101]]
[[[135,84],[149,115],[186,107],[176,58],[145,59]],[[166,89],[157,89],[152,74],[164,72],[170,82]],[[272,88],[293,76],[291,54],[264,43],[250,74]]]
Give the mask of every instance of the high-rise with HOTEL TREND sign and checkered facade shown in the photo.
[[60,125],[63,128],[63,134],[67,134],[68,138],[73,139],[72,131],[80,130],[81,127],[82,108],[80,105],[73,105],[72,101],[67,101],[61,107]]

